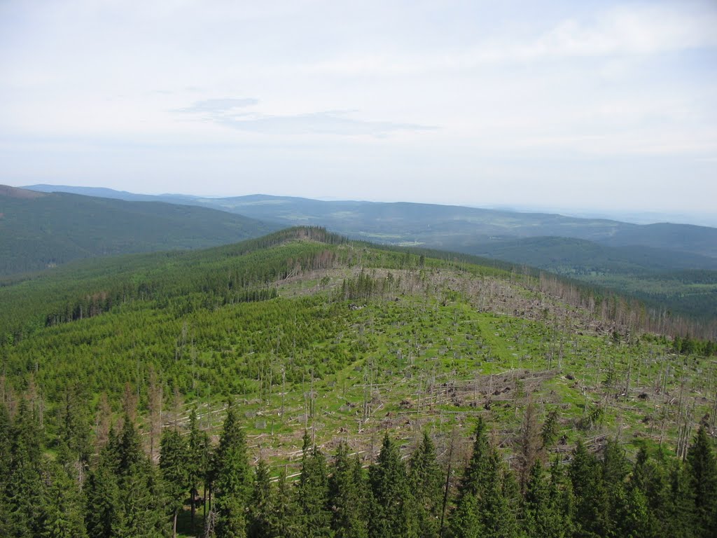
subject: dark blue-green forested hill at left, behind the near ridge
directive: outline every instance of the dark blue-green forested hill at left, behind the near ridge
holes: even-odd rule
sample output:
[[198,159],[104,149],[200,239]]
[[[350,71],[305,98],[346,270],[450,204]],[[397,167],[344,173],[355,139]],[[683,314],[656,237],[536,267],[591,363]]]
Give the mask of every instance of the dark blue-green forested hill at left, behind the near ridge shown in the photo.
[[77,258],[210,247],[276,229],[204,207],[0,186],[0,275]]

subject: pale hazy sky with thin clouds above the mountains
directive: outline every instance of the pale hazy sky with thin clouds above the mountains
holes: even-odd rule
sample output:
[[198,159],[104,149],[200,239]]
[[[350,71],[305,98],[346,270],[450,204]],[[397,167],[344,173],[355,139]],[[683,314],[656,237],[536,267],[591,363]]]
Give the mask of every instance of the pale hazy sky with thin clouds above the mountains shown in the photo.
[[717,1],[0,0],[0,183],[716,212]]

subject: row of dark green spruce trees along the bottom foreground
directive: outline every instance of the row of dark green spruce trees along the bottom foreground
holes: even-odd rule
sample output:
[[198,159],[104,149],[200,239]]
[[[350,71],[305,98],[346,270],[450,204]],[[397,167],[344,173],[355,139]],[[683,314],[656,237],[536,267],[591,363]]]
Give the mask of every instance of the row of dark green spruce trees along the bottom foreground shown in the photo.
[[[206,436],[198,435],[204,448]],[[52,461],[43,454],[42,430],[27,400],[14,419],[0,407],[0,443],[8,470],[0,477],[0,530],[8,537],[159,538],[171,534],[189,489],[190,443],[165,430],[154,466],[143,453],[136,425],[125,415],[92,462]],[[66,446],[62,444],[62,446]],[[555,463],[549,478],[538,459],[524,494],[479,420],[473,455],[455,496],[444,536],[464,537],[627,537],[703,538],[713,536],[713,445],[699,430],[682,463],[640,450],[631,465],[620,445],[608,441],[601,457],[578,443],[567,466],[569,480]],[[68,452],[69,453],[69,452]],[[202,456],[204,457],[204,456]],[[667,459],[665,459],[667,458]],[[195,471],[199,472],[199,471]],[[270,484],[263,461],[248,466],[244,434],[229,407],[214,458],[217,513],[215,536],[303,538],[436,538],[442,506],[442,473],[431,438],[424,434],[407,472],[396,443],[384,436],[369,483],[358,457],[339,445],[331,466],[305,435],[301,477],[292,489],[280,476]],[[201,478],[200,478],[201,480]],[[293,490],[293,491],[292,491]]]

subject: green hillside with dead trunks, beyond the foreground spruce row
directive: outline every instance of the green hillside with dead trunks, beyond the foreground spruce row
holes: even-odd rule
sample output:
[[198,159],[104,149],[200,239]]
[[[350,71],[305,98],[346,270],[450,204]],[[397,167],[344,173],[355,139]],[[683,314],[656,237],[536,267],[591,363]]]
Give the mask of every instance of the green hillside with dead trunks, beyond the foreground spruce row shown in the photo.
[[[561,410],[568,438],[622,428],[681,443],[678,428],[709,414],[715,397],[709,359],[678,359],[670,339],[644,333],[675,327],[639,305],[452,256],[300,228],[110,261],[0,288],[5,390],[32,378],[50,410],[74,379],[88,396],[118,402],[125,384],[144,394],[155,372],[166,394],[197,405],[242,395],[244,410],[262,417],[249,430],[275,429],[264,450],[277,458],[305,420],[322,438],[345,428],[370,443],[386,427],[403,430],[402,411],[418,413],[411,428],[440,417],[448,431],[481,409],[515,432],[529,394]],[[310,419],[309,382],[321,409]],[[668,422],[640,422],[680,384]],[[586,422],[591,410],[599,423]]]

